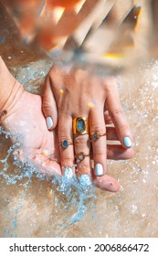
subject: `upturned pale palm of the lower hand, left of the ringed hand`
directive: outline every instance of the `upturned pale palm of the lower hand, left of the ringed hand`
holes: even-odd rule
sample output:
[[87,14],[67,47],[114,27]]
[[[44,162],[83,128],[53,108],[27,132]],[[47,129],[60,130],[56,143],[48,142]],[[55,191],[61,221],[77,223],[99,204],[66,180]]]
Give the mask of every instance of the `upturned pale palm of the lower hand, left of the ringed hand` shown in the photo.
[[1,125],[10,133],[20,134],[23,155],[30,158],[39,170],[47,176],[61,175],[58,159],[58,140],[56,132],[47,131],[47,124],[42,109],[41,97],[24,91],[19,87],[15,98],[7,100],[0,118]]

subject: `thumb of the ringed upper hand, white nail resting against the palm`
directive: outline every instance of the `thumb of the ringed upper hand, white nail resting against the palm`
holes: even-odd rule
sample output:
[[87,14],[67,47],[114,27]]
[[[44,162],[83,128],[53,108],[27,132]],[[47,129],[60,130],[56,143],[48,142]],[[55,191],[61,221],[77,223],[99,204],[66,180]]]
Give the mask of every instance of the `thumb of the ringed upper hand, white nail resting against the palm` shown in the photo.
[[46,117],[47,129],[52,131],[58,123],[57,104],[51,90],[50,83],[46,82],[46,88],[43,95],[42,111]]

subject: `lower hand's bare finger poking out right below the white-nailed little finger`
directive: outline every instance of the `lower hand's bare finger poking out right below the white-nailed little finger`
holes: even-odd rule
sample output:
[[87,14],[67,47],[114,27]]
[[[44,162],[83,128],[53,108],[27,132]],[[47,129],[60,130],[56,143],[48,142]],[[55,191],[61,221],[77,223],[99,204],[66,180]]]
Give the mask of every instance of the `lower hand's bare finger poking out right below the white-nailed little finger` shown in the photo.
[[107,145],[107,158],[112,160],[126,160],[132,158],[134,150],[131,148],[124,148],[121,144]]

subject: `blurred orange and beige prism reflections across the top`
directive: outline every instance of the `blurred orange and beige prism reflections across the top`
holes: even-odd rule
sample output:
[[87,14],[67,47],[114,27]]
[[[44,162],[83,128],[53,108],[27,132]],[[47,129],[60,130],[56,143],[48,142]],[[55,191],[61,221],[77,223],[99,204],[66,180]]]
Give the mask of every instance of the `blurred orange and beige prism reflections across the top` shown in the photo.
[[[156,0],[0,2],[14,21],[21,42],[33,50],[45,50],[54,59],[62,50],[67,61],[129,65],[144,56],[157,55]],[[6,28],[3,33],[8,37]]]

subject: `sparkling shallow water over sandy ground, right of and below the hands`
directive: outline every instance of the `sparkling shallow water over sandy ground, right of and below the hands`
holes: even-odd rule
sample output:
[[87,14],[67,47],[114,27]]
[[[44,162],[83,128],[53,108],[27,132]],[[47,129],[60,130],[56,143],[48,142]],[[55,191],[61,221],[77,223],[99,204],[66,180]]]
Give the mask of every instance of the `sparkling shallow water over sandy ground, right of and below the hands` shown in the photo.
[[[38,75],[40,69],[39,65]],[[91,186],[89,176],[77,179],[68,168],[62,177],[42,176],[31,161],[22,163],[13,154],[19,135],[14,134],[14,145],[8,144],[13,135],[1,128],[1,151],[4,144],[7,147],[0,162],[1,236],[157,237],[157,88],[157,60],[120,74],[121,102],[131,124],[135,156],[130,161],[108,161],[108,174],[121,183],[116,194]]]

